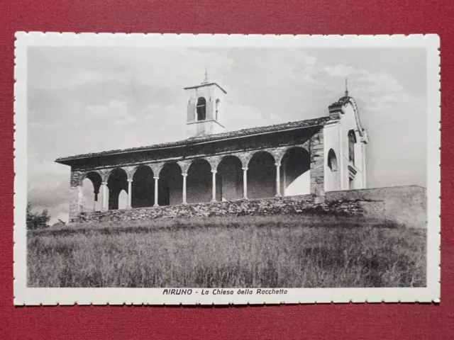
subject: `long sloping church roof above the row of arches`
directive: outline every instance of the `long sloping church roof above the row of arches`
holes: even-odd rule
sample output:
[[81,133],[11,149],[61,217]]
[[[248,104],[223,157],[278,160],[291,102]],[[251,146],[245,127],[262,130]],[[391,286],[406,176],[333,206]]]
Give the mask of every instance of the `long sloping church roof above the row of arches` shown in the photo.
[[59,157],[55,159],[55,162],[65,164],[66,161],[82,158],[92,158],[100,156],[108,156],[111,154],[123,154],[126,152],[139,152],[139,151],[148,151],[153,149],[167,149],[170,147],[186,147],[189,145],[196,145],[205,142],[216,142],[218,140],[229,140],[238,137],[248,137],[250,135],[262,135],[264,133],[279,132],[284,130],[296,130],[299,128],[309,128],[314,126],[323,126],[331,118],[328,116],[321,118],[314,118],[308,120],[298,120],[296,122],[282,123],[276,125],[260,126],[258,128],[248,128],[243,130],[236,130],[231,132],[222,132],[214,135],[205,135],[201,137],[191,137],[186,140],[179,140],[177,142],[165,142],[155,145],[148,145],[145,147],[132,147],[129,149],[116,149],[103,152],[94,152],[89,154],[77,154],[70,157]]

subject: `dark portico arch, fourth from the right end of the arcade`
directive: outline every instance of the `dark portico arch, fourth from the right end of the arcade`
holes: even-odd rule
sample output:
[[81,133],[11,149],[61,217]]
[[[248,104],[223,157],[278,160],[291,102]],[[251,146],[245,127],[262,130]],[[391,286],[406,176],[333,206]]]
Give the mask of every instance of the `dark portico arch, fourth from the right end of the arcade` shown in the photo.
[[187,169],[187,203],[209,202],[212,198],[211,164],[194,159]]

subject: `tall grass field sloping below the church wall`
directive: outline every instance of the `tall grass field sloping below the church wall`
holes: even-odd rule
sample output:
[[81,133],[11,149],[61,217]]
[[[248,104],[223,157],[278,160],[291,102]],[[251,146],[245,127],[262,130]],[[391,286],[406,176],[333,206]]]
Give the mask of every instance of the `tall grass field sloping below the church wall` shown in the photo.
[[329,216],[28,232],[31,287],[423,287],[426,231]]

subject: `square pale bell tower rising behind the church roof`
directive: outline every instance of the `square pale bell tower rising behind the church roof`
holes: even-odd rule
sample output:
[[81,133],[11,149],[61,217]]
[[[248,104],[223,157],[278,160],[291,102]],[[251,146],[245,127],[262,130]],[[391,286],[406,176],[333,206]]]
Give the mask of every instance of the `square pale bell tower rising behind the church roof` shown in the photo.
[[200,137],[224,131],[224,95],[218,84],[205,79],[200,85],[185,87],[187,102],[187,137]]

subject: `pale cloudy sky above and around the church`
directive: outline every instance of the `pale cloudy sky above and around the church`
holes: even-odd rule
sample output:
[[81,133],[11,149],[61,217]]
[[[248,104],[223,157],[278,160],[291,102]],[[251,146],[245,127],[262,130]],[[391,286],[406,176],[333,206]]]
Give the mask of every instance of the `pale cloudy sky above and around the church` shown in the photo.
[[426,186],[426,54],[416,48],[28,47],[28,201],[67,221],[57,157],[186,138],[184,87],[227,91],[226,130],[328,115],[348,79],[367,187]]

